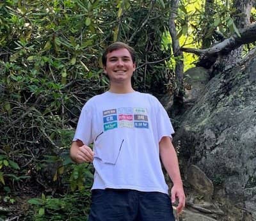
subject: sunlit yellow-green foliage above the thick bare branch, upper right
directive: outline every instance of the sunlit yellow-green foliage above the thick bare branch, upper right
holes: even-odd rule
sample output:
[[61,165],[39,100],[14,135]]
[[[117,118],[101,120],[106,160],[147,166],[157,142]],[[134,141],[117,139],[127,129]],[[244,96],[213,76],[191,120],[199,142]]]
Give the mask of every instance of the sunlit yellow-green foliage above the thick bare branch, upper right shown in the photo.
[[[182,44],[186,47],[195,47],[193,45],[202,45],[206,39],[209,40],[207,47],[212,43],[220,41],[216,36],[216,31],[223,37],[228,37],[239,31],[234,22],[233,14],[236,8],[232,8],[233,1],[214,1],[210,5],[211,15],[205,13],[202,1],[181,1],[179,7],[179,16],[177,18],[178,36],[185,36],[186,41]],[[204,39],[202,39],[204,36]],[[189,38],[193,38],[193,41]]]

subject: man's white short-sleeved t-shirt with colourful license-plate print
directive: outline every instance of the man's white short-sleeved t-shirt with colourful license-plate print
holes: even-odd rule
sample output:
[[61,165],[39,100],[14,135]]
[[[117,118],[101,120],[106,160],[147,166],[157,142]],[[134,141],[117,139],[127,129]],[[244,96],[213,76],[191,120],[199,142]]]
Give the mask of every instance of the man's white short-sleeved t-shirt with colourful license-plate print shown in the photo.
[[168,194],[159,141],[172,138],[170,118],[156,97],[139,92],[93,96],[84,105],[73,141],[93,143],[92,189],[124,188]]

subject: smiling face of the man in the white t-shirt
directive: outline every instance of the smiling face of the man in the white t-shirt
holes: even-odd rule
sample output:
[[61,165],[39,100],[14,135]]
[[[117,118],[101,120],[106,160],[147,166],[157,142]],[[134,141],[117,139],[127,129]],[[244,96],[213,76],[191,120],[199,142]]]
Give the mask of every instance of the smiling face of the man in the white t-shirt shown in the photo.
[[130,52],[125,49],[117,49],[106,56],[104,73],[108,75],[111,83],[131,83],[132,73],[136,65],[132,61]]

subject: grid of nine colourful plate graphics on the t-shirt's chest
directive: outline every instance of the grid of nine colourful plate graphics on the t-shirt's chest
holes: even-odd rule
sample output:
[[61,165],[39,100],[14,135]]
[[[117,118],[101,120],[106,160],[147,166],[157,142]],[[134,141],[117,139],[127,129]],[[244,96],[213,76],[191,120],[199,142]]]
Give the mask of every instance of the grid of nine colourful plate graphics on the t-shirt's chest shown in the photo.
[[104,131],[114,128],[148,128],[147,109],[120,107],[103,111]]

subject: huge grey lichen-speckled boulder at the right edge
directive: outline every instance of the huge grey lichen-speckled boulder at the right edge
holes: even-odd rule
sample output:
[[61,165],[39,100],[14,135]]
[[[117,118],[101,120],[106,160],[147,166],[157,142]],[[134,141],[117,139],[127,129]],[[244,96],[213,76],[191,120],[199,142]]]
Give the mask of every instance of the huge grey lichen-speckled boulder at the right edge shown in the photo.
[[199,167],[256,220],[255,51],[207,83],[180,118],[174,142],[186,165]]

